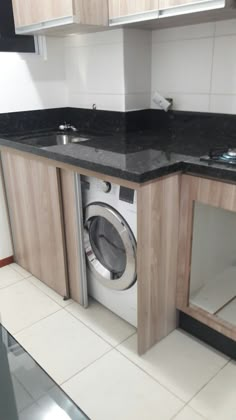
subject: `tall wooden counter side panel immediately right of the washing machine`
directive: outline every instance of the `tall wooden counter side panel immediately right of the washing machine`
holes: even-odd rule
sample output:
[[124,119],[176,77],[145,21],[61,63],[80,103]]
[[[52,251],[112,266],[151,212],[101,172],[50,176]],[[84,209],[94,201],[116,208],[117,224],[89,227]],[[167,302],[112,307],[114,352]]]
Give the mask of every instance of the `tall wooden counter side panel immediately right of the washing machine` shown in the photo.
[[138,351],[177,325],[176,280],[180,176],[138,190]]

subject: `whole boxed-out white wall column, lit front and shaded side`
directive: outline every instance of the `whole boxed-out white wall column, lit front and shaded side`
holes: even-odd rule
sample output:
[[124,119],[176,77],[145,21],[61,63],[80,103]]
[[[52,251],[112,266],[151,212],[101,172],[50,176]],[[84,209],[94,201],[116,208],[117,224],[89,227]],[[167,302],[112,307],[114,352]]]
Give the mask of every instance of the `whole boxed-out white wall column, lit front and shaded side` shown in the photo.
[[110,111],[149,108],[151,32],[116,29],[66,39],[68,103]]

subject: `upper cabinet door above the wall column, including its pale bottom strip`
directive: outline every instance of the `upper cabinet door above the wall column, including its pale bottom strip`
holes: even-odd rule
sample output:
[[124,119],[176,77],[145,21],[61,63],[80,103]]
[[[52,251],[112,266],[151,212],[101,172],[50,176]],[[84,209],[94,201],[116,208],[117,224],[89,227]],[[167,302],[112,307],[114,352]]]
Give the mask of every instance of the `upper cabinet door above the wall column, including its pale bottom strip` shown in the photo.
[[109,0],[110,24],[143,21],[158,17],[159,0]]

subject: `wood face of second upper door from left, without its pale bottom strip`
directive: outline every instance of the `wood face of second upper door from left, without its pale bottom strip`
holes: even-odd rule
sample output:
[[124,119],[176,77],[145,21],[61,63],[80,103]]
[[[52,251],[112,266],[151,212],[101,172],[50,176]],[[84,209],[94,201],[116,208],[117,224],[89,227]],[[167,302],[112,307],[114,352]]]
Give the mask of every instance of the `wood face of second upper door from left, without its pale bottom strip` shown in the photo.
[[159,0],[109,0],[109,18],[157,10]]

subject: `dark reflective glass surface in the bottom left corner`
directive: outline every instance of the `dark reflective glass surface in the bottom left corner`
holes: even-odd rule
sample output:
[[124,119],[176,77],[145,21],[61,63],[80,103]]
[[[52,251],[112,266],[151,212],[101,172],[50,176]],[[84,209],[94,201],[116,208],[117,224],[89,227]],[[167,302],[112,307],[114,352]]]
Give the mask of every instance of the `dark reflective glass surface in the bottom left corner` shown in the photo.
[[0,325],[0,420],[88,417]]

